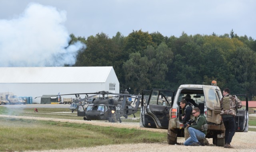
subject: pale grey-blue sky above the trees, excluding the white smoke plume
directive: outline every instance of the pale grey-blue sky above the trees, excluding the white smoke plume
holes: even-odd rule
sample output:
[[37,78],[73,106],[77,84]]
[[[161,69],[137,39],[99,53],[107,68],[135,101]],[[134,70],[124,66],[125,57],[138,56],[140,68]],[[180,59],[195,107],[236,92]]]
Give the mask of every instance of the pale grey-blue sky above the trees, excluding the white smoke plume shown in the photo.
[[0,19],[19,16],[30,2],[66,12],[68,33],[88,37],[120,31],[159,31],[164,36],[230,33],[256,39],[256,0],[0,0]]

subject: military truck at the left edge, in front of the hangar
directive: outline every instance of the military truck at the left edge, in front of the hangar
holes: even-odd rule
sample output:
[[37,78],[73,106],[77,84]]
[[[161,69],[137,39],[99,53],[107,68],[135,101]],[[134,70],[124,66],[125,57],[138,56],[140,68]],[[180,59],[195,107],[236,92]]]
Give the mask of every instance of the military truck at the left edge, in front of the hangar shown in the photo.
[[9,93],[9,92],[2,92],[0,93],[1,97],[1,104],[26,104],[26,101],[24,101],[21,98],[18,98],[17,95],[14,95],[14,93]]

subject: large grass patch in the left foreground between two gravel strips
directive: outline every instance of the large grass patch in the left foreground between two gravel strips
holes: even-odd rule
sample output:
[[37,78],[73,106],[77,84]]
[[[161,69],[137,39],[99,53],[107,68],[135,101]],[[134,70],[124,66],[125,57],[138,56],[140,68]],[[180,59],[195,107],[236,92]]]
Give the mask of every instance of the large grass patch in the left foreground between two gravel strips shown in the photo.
[[123,143],[166,142],[166,133],[0,117],[0,151],[50,150]]

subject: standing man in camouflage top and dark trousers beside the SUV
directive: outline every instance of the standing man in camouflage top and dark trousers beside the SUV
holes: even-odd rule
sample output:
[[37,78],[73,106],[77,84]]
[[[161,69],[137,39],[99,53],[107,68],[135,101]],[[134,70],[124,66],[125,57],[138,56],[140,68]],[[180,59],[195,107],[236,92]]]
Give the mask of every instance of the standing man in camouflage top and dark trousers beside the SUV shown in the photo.
[[242,108],[242,102],[235,96],[230,95],[228,88],[223,90],[223,97],[220,100],[220,115],[225,126],[225,145],[224,148],[234,148],[230,142],[235,134],[235,116],[237,108]]

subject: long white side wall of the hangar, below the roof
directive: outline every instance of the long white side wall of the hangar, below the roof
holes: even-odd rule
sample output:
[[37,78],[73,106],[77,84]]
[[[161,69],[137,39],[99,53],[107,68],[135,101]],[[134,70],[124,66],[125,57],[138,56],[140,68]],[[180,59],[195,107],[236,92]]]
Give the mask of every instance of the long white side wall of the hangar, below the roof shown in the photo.
[[[12,92],[17,96],[32,96],[33,103],[40,103],[40,98],[34,98],[42,95],[57,95],[59,92],[60,94],[93,93],[105,91],[106,86],[108,84],[105,85],[105,83],[1,83],[0,92]],[[62,96],[62,98],[69,97],[74,98],[75,95]],[[85,95],[80,95],[80,97],[84,98]]]

